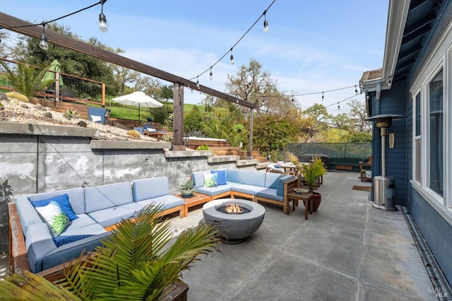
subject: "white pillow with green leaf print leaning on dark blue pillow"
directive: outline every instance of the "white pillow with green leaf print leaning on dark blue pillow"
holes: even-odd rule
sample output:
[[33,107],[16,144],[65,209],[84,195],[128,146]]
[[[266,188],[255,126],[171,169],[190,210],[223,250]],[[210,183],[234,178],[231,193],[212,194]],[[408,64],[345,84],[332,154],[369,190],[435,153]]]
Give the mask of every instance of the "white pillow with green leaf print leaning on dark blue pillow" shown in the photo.
[[50,201],[47,206],[35,207],[35,209],[47,223],[52,236],[60,235],[71,224],[69,217],[56,201]]

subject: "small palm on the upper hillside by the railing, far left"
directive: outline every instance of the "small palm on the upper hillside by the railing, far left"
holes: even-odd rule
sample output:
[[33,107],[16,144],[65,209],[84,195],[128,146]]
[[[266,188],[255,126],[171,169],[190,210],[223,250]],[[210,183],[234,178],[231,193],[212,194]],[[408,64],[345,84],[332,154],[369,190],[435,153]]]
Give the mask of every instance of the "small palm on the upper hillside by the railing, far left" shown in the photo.
[[6,70],[6,80],[15,88],[18,93],[25,95],[29,100],[35,97],[35,94],[44,90],[47,86],[55,82],[54,79],[42,81],[47,72],[44,68],[41,71],[28,64],[17,64],[16,69],[11,69],[4,61],[0,64]]

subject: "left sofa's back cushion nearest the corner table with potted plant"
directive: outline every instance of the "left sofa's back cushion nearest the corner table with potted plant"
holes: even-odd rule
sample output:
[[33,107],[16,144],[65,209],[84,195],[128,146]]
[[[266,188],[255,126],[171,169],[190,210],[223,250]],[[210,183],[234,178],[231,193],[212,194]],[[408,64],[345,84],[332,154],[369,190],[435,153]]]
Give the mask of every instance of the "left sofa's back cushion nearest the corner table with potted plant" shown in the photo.
[[143,201],[169,194],[169,180],[167,177],[137,179],[132,182],[132,185],[133,201]]

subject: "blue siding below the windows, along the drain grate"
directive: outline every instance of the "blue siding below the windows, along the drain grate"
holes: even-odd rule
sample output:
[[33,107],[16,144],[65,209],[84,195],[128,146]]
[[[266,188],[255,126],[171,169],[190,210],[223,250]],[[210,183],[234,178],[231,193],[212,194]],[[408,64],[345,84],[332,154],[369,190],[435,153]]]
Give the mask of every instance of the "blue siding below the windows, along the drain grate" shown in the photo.
[[448,283],[452,283],[452,225],[412,187],[408,189],[407,207]]

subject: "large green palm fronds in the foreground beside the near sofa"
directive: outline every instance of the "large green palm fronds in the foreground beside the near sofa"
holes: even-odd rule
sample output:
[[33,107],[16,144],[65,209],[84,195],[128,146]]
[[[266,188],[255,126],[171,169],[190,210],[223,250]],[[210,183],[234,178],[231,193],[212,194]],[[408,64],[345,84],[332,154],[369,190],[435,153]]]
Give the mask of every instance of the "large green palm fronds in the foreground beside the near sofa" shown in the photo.
[[160,208],[149,206],[136,218],[123,220],[102,240],[103,247],[64,270],[66,278],[59,285],[29,272],[16,274],[0,282],[0,295],[6,299],[23,295],[24,300],[44,295],[59,298],[55,300],[158,300],[198,255],[213,252],[219,242],[218,230],[199,225],[182,232],[169,246],[170,224],[160,214]]

